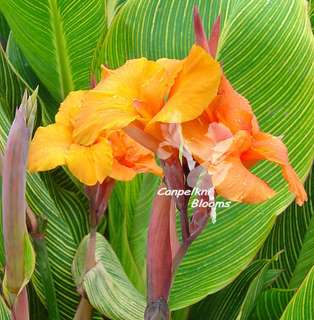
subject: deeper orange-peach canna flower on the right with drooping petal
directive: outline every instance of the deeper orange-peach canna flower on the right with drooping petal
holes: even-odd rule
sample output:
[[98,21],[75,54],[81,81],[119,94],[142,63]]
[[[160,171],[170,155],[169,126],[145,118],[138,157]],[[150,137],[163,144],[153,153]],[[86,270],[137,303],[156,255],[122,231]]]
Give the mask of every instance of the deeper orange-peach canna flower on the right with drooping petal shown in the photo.
[[188,149],[208,167],[218,194],[232,201],[260,203],[275,195],[264,181],[249,171],[261,160],[281,166],[289,189],[302,205],[307,200],[303,184],[289,163],[280,138],[260,131],[249,102],[222,76],[217,97],[197,119],[182,124]]

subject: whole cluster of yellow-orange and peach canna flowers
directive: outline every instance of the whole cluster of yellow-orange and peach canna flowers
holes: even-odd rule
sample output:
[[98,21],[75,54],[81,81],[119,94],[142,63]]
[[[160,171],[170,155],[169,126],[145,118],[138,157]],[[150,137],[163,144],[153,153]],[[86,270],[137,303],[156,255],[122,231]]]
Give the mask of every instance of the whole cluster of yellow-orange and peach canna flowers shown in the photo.
[[[173,138],[173,126],[179,143],[161,148]],[[281,167],[298,204],[307,199],[284,143],[261,131],[249,102],[201,45],[183,60],[140,58],[116,70],[103,67],[95,88],[70,93],[55,123],[37,130],[29,169],[67,165],[86,185],[130,180],[138,172],[162,175],[155,155],[181,147],[229,200],[260,203],[274,196],[249,171],[261,160]]]

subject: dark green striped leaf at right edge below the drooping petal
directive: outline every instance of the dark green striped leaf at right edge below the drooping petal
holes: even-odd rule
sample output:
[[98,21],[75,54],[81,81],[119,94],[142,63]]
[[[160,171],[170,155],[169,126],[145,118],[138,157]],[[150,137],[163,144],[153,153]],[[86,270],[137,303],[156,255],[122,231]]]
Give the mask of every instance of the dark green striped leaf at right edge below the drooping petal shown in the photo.
[[272,267],[282,269],[275,286],[278,288],[297,288],[314,265],[314,210],[313,210],[313,172],[307,179],[305,189],[309,201],[299,207],[291,204],[284,214],[277,218],[276,224],[260,250],[260,258],[270,258],[275,252],[283,250]]

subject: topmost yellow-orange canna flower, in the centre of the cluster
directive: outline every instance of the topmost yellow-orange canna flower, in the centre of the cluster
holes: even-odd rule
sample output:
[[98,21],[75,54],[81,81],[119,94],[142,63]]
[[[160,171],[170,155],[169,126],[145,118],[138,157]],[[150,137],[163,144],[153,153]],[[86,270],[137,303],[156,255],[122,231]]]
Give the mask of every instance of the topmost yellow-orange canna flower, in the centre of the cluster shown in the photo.
[[110,128],[131,122],[147,130],[156,123],[182,123],[198,117],[217,94],[219,64],[193,46],[184,60],[130,60],[104,69],[101,82],[85,96],[74,129],[84,145]]

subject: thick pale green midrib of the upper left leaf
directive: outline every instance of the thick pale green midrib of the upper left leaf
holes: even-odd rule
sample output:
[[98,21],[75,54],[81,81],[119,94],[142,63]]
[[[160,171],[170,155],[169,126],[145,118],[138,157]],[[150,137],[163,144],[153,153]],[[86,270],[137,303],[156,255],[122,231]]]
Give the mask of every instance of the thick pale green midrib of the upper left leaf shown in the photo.
[[71,64],[67,51],[63,21],[58,8],[57,0],[48,0],[50,7],[51,26],[53,31],[53,43],[56,49],[56,62],[60,80],[60,94],[63,99],[73,90]]

